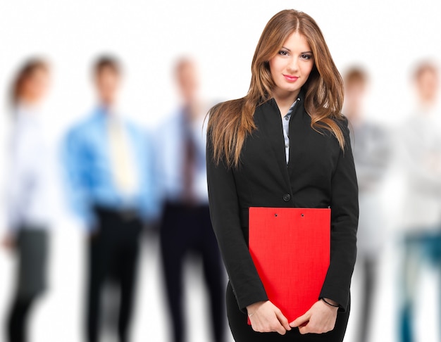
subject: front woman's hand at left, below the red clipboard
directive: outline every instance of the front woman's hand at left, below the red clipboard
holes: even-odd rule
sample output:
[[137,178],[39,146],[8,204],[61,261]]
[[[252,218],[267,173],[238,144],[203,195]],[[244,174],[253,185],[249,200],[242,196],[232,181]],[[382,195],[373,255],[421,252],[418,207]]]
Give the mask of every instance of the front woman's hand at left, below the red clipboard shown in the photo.
[[269,300],[248,305],[247,311],[254,331],[275,331],[280,335],[285,335],[287,330],[291,330],[288,319]]

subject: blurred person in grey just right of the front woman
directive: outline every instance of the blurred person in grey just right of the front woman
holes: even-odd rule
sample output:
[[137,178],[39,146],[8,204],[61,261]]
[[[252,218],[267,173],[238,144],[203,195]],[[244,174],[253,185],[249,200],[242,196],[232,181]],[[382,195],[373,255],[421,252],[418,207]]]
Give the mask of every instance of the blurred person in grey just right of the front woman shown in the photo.
[[366,342],[373,314],[378,259],[385,241],[380,190],[391,154],[390,135],[364,113],[368,74],[352,67],[344,75],[344,115],[349,120],[356,175],[359,183],[359,230],[356,268],[363,277],[363,298],[357,342]]

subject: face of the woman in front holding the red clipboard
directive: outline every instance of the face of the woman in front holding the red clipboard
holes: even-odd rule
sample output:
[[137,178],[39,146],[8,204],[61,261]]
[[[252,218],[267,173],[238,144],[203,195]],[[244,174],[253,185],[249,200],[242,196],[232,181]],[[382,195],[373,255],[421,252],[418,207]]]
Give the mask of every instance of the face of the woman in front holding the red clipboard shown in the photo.
[[314,65],[311,47],[302,34],[293,32],[269,64],[275,83],[274,95],[296,97]]

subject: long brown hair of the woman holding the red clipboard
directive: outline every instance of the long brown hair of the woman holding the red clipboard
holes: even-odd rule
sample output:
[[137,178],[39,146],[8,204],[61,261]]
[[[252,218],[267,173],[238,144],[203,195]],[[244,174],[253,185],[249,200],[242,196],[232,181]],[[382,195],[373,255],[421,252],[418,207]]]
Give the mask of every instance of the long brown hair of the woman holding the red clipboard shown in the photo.
[[344,149],[342,129],[336,122],[342,119],[343,82],[340,72],[315,20],[306,13],[285,10],[274,15],[261,34],[251,63],[251,84],[247,95],[220,103],[209,111],[208,132],[216,163],[224,160],[228,167],[239,164],[245,138],[256,128],[254,111],[271,99],[275,88],[268,61],[280,51],[293,32],[299,32],[306,38],[314,56],[313,70],[302,87],[311,127],[332,132]]

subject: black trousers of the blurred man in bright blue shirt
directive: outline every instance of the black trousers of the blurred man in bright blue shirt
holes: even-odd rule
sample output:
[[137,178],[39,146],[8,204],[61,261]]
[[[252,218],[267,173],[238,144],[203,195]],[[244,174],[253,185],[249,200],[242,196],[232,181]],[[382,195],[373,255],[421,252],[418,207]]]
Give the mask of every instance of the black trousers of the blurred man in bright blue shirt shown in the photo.
[[99,341],[101,294],[109,279],[120,288],[118,337],[129,341],[142,222],[135,213],[96,208],[99,228],[89,240],[87,341]]

